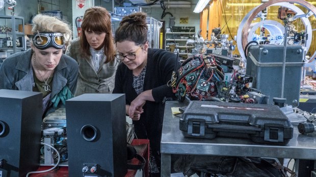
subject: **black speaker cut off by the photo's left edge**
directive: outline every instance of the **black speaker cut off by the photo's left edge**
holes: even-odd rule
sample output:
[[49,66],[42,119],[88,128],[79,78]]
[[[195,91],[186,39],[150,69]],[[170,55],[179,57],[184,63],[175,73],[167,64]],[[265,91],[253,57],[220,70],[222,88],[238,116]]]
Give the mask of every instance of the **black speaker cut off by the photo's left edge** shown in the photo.
[[40,162],[42,94],[0,90],[0,176],[25,176]]

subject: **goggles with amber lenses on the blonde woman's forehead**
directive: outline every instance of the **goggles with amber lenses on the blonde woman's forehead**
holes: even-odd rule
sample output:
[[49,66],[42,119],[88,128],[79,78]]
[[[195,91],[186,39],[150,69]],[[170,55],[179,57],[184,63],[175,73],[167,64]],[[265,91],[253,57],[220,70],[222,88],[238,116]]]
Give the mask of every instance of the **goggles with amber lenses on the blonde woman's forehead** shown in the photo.
[[56,49],[63,49],[65,46],[65,39],[60,32],[37,32],[33,36],[33,44],[38,49],[47,49],[54,47]]

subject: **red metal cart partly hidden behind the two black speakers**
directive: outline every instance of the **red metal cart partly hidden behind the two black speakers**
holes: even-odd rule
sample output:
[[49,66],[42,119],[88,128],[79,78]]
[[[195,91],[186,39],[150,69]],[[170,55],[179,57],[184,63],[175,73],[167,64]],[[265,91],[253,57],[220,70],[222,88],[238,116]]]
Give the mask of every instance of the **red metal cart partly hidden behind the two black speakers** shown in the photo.
[[[135,147],[137,152],[146,159],[146,165],[144,167],[145,177],[149,176],[149,140],[148,139],[134,139],[131,142],[131,145]],[[131,164],[138,164],[138,159],[130,160]],[[40,166],[37,171],[43,171],[51,168],[51,166]],[[134,177],[137,170],[127,170],[127,173],[124,177]],[[58,166],[53,170],[44,173],[33,173],[29,177],[68,177],[68,166]]]

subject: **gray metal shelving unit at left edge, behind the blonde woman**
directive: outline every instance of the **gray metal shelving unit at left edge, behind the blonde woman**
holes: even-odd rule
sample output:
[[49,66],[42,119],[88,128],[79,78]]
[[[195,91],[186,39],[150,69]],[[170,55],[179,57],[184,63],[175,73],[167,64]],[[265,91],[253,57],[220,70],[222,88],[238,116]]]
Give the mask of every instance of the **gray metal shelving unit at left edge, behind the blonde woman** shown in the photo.
[[[22,24],[22,32],[17,30],[19,24]],[[16,53],[26,50],[23,17],[0,15],[0,25],[7,26],[12,29],[11,32],[0,31],[0,51]]]

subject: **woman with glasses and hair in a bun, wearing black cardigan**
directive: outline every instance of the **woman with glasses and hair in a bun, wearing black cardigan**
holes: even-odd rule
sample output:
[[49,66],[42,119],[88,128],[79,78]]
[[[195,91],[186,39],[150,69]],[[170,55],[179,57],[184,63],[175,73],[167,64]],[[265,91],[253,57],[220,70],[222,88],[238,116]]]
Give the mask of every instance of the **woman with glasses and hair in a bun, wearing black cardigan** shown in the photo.
[[125,93],[126,115],[132,120],[138,138],[150,140],[152,176],[160,176],[160,140],[166,97],[175,97],[167,84],[177,64],[176,55],[150,49],[145,13],[125,16],[115,32],[117,54],[121,61],[113,93]]

